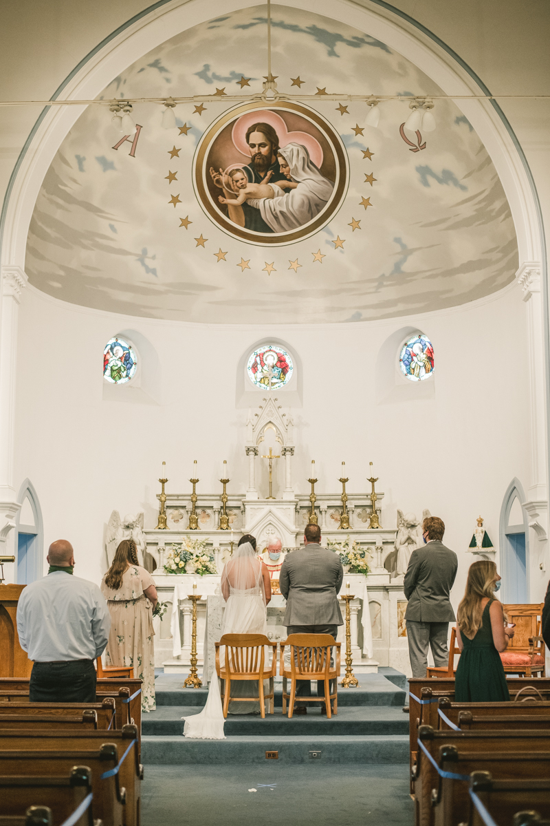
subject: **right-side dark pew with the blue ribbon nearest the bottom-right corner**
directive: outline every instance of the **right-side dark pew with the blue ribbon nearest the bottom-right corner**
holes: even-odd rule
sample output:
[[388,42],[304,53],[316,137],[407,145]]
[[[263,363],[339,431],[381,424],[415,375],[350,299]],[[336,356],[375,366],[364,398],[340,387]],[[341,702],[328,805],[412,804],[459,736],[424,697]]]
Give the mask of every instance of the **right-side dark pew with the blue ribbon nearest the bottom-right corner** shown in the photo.
[[[493,780],[490,771],[473,771],[470,790],[481,800],[498,824],[511,823],[510,814],[536,809],[538,817],[550,818],[550,780]],[[467,826],[484,826],[481,815],[470,799]]]

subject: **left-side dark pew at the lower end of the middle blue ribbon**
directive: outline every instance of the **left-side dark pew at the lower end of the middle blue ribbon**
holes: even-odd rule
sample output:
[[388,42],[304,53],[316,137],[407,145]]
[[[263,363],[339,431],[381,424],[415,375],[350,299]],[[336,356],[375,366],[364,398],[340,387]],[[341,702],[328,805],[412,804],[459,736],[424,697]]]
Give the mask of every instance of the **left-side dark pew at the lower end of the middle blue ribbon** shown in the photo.
[[75,764],[85,762],[92,781],[94,816],[101,819],[103,826],[124,826],[126,791],[120,785],[119,775],[101,777],[105,771],[115,768],[121,756],[114,743],[104,743],[95,751],[2,751],[0,776],[62,777],[68,775]]

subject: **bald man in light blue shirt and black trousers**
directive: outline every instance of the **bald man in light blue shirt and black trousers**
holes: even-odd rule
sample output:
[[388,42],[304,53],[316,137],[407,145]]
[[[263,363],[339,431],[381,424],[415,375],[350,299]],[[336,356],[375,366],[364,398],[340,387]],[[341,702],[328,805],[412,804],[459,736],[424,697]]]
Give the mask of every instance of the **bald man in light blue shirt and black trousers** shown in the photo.
[[46,577],[21,591],[17,633],[34,660],[31,703],[92,703],[94,660],[109,639],[110,615],[98,586],[73,576],[73,546],[58,539],[49,546]]

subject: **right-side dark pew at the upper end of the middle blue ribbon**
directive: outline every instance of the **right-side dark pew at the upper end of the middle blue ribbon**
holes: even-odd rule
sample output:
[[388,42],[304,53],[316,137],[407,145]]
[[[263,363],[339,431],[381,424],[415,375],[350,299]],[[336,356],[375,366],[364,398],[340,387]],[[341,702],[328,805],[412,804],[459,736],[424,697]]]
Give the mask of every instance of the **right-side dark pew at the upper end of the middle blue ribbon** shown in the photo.
[[[421,726],[415,781],[416,826],[458,826],[468,819],[468,782],[472,771],[491,771],[499,780],[550,776],[550,732],[436,731]],[[440,777],[425,756],[423,743],[441,771],[462,780]]]

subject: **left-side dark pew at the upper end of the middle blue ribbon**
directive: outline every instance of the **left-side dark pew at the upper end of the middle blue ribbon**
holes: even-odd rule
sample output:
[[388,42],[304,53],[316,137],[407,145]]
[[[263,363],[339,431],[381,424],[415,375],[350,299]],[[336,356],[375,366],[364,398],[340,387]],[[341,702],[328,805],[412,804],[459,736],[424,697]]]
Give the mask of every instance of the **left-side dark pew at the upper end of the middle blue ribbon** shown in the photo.
[[[133,741],[137,741],[131,746]],[[143,766],[139,762],[139,736],[135,725],[106,731],[40,731],[0,729],[0,754],[2,752],[96,752],[104,743],[114,743],[119,754],[120,786],[126,790],[125,826],[139,826],[140,784]],[[125,752],[129,752],[125,756]]]

